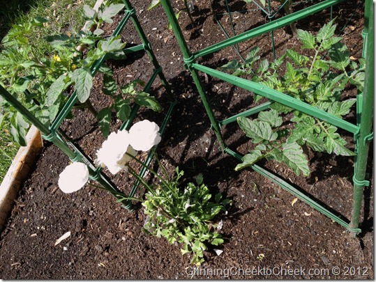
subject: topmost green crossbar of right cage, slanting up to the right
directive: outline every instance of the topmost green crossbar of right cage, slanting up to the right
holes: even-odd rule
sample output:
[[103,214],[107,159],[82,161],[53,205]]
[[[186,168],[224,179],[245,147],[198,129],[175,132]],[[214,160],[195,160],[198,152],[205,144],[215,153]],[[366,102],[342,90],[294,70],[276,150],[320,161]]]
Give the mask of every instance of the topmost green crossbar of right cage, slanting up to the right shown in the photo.
[[209,47],[206,47],[198,52],[195,52],[193,54],[193,58],[200,58],[202,56],[209,55],[214,52],[218,52],[220,49],[230,47],[233,45],[236,45],[240,42],[243,42],[245,40],[248,40],[250,38],[255,38],[257,36],[261,36],[264,33],[268,33],[270,31],[273,31],[275,29],[280,29],[283,26],[287,26],[287,24],[291,24],[292,22],[296,22],[299,19],[303,19],[304,17],[308,17],[309,15],[313,15],[315,13],[318,13],[325,8],[329,8],[330,6],[336,5],[343,0],[326,0],[321,3],[317,3],[313,6],[310,6],[308,8],[304,8],[302,10],[299,10],[295,13],[292,13],[290,15],[287,15],[285,17],[282,17],[280,19],[276,19],[273,22],[269,22],[267,24],[263,24],[262,26],[258,26],[255,29],[251,29],[250,31],[246,31],[244,33],[239,34],[239,36],[234,36],[230,39],[223,40],[220,43],[211,45]]

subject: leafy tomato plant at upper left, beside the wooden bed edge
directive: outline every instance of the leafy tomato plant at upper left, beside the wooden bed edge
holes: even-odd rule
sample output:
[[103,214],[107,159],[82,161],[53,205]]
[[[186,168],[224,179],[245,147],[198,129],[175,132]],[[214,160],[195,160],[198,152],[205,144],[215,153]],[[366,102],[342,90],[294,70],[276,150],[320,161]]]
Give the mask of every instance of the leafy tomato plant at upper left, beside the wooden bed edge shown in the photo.
[[[13,33],[3,38],[0,53],[0,84],[5,86],[17,100],[24,101],[25,106],[45,125],[49,126],[68,100],[71,87],[77,93],[77,107],[86,107],[98,118],[100,129],[105,136],[110,134],[112,110],[122,121],[130,114],[130,103],[160,111],[160,104],[154,97],[136,86],[142,81],[133,81],[129,85],[119,86],[111,68],[101,65],[99,72],[104,74],[103,93],[111,95],[114,103],[99,113],[93,109],[89,95],[93,87],[91,68],[103,56],[105,58],[124,59],[120,36],[105,39],[101,35],[101,24],[111,23],[112,17],[123,10],[124,4],[116,1],[103,1],[98,12],[84,5],[84,17],[87,24],[76,34],[64,33],[46,36],[45,40],[53,47],[53,54],[39,56],[31,38],[22,33],[34,27],[43,28],[48,19],[36,17],[25,25],[15,26]],[[68,91],[67,91],[68,90]],[[29,126],[16,109],[0,99],[1,118],[10,120],[10,132],[14,140],[25,146],[26,129]],[[6,109],[6,110],[4,110]]]

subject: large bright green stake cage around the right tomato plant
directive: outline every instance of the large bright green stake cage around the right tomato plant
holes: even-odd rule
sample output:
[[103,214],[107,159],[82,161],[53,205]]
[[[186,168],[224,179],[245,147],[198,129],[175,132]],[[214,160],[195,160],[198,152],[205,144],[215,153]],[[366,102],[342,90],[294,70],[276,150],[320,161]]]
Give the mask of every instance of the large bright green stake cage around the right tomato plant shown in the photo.
[[[341,226],[347,228],[347,230],[352,233],[353,235],[357,235],[361,232],[359,228],[359,214],[361,209],[361,199],[363,195],[363,187],[368,185],[368,181],[365,179],[365,171],[366,171],[366,162],[368,158],[368,146],[369,141],[372,138],[373,134],[371,134],[370,129],[373,120],[373,7],[372,1],[366,0],[366,19],[365,19],[365,30],[363,32],[363,38],[365,38],[365,45],[366,51],[366,85],[364,89],[364,93],[360,93],[360,97],[363,97],[361,102],[363,102],[362,106],[357,106],[356,116],[359,118],[356,125],[349,123],[341,118],[336,116],[332,116],[326,111],[322,111],[321,109],[317,109],[310,104],[302,102],[301,100],[296,100],[294,97],[290,97],[284,93],[280,93],[276,90],[273,90],[269,87],[266,87],[262,84],[257,84],[253,81],[248,81],[246,79],[242,79],[240,77],[235,77],[234,75],[229,75],[225,72],[221,72],[219,70],[214,70],[212,68],[206,67],[204,65],[200,65],[196,63],[195,60],[202,56],[206,56],[212,54],[214,52],[218,52],[221,49],[226,47],[234,47],[238,43],[249,40],[250,38],[255,38],[257,36],[261,36],[264,33],[272,32],[276,29],[280,29],[287,24],[291,24],[292,22],[296,22],[299,19],[303,19],[308,17],[309,15],[313,15],[318,13],[326,8],[332,8],[334,5],[342,2],[343,0],[325,0],[320,3],[317,3],[313,6],[308,8],[303,8],[302,10],[296,11],[290,15],[285,15],[279,19],[273,20],[273,22],[268,22],[263,24],[262,26],[258,26],[254,29],[250,29],[244,33],[236,35],[232,38],[227,38],[222,42],[216,43],[209,47],[206,47],[198,52],[191,53],[186,40],[183,37],[183,33],[181,32],[181,28],[179,23],[174,16],[174,10],[172,9],[171,3],[169,0],[161,0],[163,5],[163,9],[167,15],[168,20],[172,26],[174,31],[174,35],[176,40],[179,43],[179,47],[181,48],[181,52],[183,54],[183,59],[186,68],[190,70],[190,73],[193,77],[193,81],[197,87],[197,91],[200,94],[202,103],[206,109],[206,113],[209,116],[209,120],[211,121],[211,126],[213,131],[215,132],[217,139],[220,143],[220,148],[223,152],[232,155],[236,159],[241,160],[241,155],[234,150],[231,150],[225,144],[223,137],[220,132],[220,127],[222,125],[226,125],[228,123],[232,123],[236,121],[236,118],[239,116],[250,116],[255,113],[258,113],[264,109],[268,109],[271,102],[266,102],[261,104],[257,107],[253,107],[252,109],[248,109],[243,111],[242,113],[237,113],[236,115],[226,118],[225,120],[218,121],[213,114],[213,109],[209,104],[209,98],[204,91],[202,80],[199,77],[199,72],[204,72],[206,75],[211,75],[212,77],[216,77],[218,79],[222,79],[223,81],[227,81],[230,84],[235,86],[239,86],[243,89],[256,93],[258,95],[262,95],[263,97],[268,98],[271,101],[279,102],[284,104],[288,107],[293,109],[302,111],[303,113],[307,113],[310,116],[315,118],[319,118],[320,120],[324,120],[326,123],[330,123],[331,125],[335,125],[336,127],[340,127],[347,132],[351,132],[354,134],[354,140],[356,142],[356,157],[355,157],[355,173],[354,173],[354,194],[353,194],[353,207],[352,207],[352,219],[351,222],[348,223],[344,219],[341,218],[339,214],[335,214],[331,212],[327,207],[324,207],[318,201],[313,199],[313,196],[310,196],[308,193],[303,193],[296,187],[293,187],[288,182],[280,178],[278,175],[274,175],[273,173],[266,171],[262,167],[258,166],[257,164],[253,164],[251,168],[255,170],[257,173],[264,175],[266,178],[269,178],[276,184],[280,185],[283,189],[289,191],[289,193],[293,194],[297,198],[301,199],[311,207],[315,208],[315,210],[325,214],[327,217],[333,219]],[[358,96],[359,96],[358,95]],[[358,102],[359,102],[358,100]]]

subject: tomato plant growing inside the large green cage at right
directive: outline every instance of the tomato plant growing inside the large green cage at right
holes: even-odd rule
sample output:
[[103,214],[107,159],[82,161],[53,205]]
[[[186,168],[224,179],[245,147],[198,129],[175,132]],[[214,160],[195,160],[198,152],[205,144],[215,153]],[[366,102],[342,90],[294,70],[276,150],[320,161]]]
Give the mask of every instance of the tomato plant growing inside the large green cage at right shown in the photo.
[[[246,63],[232,61],[222,68],[231,70],[237,76],[249,75],[252,81],[343,118],[356,100],[341,100],[341,94],[349,84],[363,91],[365,62],[359,59],[359,65],[350,60],[350,53],[340,42],[342,38],[334,35],[335,30],[336,25],[332,20],[316,36],[300,29],[297,31],[302,49],[313,50],[313,56],[287,49],[273,63],[264,59],[256,69],[256,63],[260,61],[257,55],[260,48],[255,47],[246,58]],[[278,70],[283,64],[286,71],[279,75]],[[255,101],[260,98],[260,95],[256,95]],[[236,170],[251,166],[260,159],[275,159],[289,166],[296,175],[303,173],[307,176],[310,168],[304,147],[329,154],[355,155],[345,147],[346,141],[337,133],[337,127],[277,102],[273,102],[270,108],[269,111],[261,111],[253,120],[238,118],[239,126],[255,147],[243,157]],[[283,115],[287,113],[292,116],[292,125],[283,125]]]

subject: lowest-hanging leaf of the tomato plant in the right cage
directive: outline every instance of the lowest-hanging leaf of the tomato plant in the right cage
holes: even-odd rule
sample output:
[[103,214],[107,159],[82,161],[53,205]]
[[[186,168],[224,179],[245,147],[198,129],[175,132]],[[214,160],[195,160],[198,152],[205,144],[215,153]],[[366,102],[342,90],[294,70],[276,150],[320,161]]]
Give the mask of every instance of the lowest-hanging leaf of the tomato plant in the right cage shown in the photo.
[[304,155],[301,146],[293,142],[283,144],[282,148],[285,164],[287,164],[296,175],[300,175],[300,172],[302,172],[304,176],[308,176],[310,174],[308,159],[306,155]]

